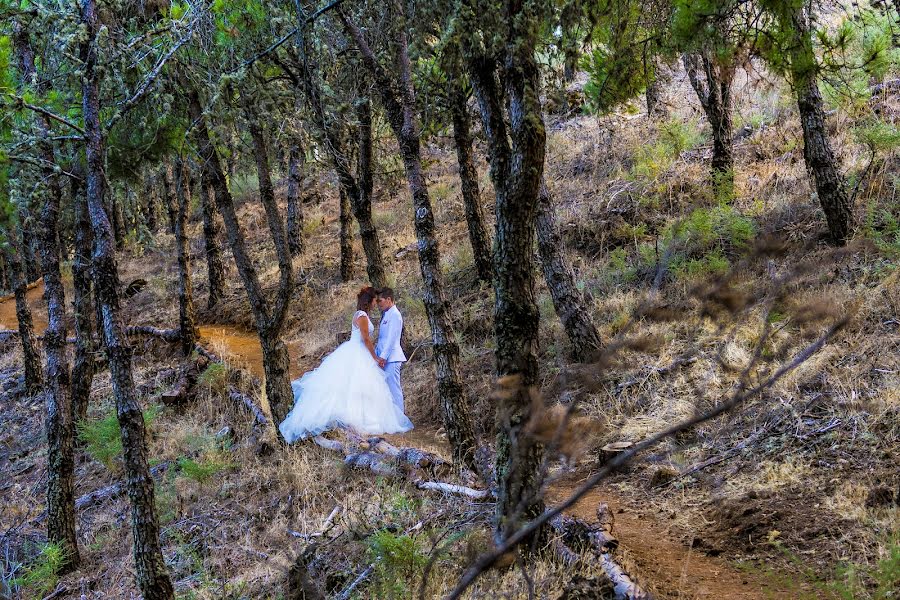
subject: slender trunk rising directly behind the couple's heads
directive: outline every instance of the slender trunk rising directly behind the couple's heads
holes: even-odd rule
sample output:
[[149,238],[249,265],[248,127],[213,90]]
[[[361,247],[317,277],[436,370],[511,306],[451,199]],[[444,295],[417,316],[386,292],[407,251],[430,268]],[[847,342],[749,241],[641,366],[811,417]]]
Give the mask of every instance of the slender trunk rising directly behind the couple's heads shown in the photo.
[[366,253],[369,282],[380,288],[387,284],[387,277],[381,244],[378,242],[378,230],[372,223],[372,107],[368,98],[361,98],[356,102],[356,118],[359,121],[359,168],[356,171],[359,188],[357,196],[351,198],[353,216],[359,224],[359,237],[362,239],[363,252]]

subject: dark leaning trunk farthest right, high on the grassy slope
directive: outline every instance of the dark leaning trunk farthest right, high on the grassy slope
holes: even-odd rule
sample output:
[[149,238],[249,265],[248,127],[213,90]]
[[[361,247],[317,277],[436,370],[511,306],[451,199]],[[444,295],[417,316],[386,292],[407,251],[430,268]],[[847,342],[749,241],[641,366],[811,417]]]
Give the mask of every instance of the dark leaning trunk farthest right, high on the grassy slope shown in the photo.
[[831,240],[843,246],[853,233],[853,203],[825,128],[825,111],[816,78],[817,63],[810,33],[810,17],[802,7],[786,10],[790,13],[790,22],[785,23],[785,26],[793,33],[790,68],[797,95],[797,109],[800,112],[800,125],[803,127],[803,158],[815,182]]

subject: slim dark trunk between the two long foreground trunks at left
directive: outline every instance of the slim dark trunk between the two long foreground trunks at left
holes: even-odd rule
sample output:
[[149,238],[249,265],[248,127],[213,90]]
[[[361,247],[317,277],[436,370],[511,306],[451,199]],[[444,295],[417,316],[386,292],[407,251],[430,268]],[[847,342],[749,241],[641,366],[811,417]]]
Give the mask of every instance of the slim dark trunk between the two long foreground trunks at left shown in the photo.
[[94,378],[94,340],[91,322],[91,222],[87,196],[78,179],[72,180],[72,206],[75,209],[75,257],[72,261],[72,287],[75,290],[75,364],[72,367],[72,412],[75,422],[87,419],[91,382]]

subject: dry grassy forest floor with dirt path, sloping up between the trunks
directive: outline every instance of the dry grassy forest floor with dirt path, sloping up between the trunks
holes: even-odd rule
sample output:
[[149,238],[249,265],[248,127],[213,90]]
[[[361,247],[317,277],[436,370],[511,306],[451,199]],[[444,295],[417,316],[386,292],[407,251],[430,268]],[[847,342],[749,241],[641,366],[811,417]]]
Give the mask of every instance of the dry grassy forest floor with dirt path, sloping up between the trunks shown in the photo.
[[[883,157],[872,171],[857,200],[864,224],[859,239],[849,251],[833,254],[817,241],[824,220],[810,196],[796,117],[781,97],[777,90],[739,95],[739,125],[747,124],[750,132],[737,143],[737,194],[727,204],[707,191],[709,148],[689,106],[676,106],[673,117],[659,123],[646,116],[549,122],[548,181],[567,252],[604,339],[630,328],[631,335],[661,334],[664,341],[652,351],[596,367],[593,383],[584,384],[572,376],[583,367],[567,357],[565,334],[540,286],[544,400],[577,401],[578,415],[594,424],[586,451],[554,465],[548,501],[564,498],[595,472],[603,446],[638,442],[725,397],[736,373],[751,363],[760,323],[778,326],[764,348],[777,365],[811,335],[792,316],[798,306],[824,299],[834,310],[852,313],[838,337],[764,396],[667,440],[570,509],[573,516],[596,521],[597,505],[607,503],[626,570],[660,598],[865,598],[895,589],[900,578],[900,158],[896,152]],[[845,169],[857,172],[865,164],[853,141],[853,123],[836,120],[836,147]],[[464,385],[477,433],[490,439],[493,301],[474,278],[452,149],[430,147],[427,162]],[[491,215],[486,164],[479,167]],[[402,179],[394,177],[380,182],[375,224],[415,349],[404,387],[416,429],[390,440],[446,455],[428,323],[417,299],[412,209]],[[274,289],[277,262],[253,178],[232,183],[261,279]],[[366,283],[358,241],[357,278],[340,280],[334,182],[311,178],[308,192],[306,250],[294,265],[300,277],[285,335],[293,375],[314,368],[336,345],[336,336],[349,330],[355,292]],[[413,597],[420,585],[424,597],[446,595],[465,566],[489,547],[490,503],[348,470],[342,457],[311,443],[257,453],[250,417],[225,393],[236,386],[265,404],[254,381],[261,357],[249,306],[226,252],[226,299],[215,311],[204,308],[206,271],[196,212],[191,227],[197,231],[190,240],[201,333],[226,366],[207,369],[190,402],[162,408],[160,394],[173,385],[182,360],[175,347],[152,338],[137,339],[135,353],[150,455],[154,464],[168,466],[157,480],[157,509],[178,593],[283,597],[291,566],[303,557],[329,594],[345,589],[371,564],[374,570],[356,597]],[[741,272],[746,288],[762,286],[802,260],[815,265],[777,310],[750,311],[727,332],[705,322],[660,324],[633,317],[659,273],[660,246],[670,244],[676,256],[656,299],[676,305],[738,264],[748,239],[763,234],[781,236],[787,250]],[[172,236],[160,233],[133,240],[119,255],[123,283],[148,282],[125,303],[130,324],[176,325],[172,248]],[[40,314],[40,286],[29,296]],[[0,329],[14,328],[12,304],[0,302]],[[689,348],[697,349],[692,359],[669,368]],[[17,576],[28,572],[27,565],[33,572],[40,564],[35,555],[43,529],[37,519],[46,483],[42,402],[21,395],[20,369],[15,344],[0,341],[0,532],[5,564],[18,565]],[[109,374],[101,371],[82,428],[79,496],[121,477],[110,396]],[[336,507],[337,518],[322,533]],[[129,518],[124,497],[86,506],[79,512],[84,566],[59,581],[30,581],[21,593],[136,597]],[[436,562],[426,568],[430,558]],[[540,555],[524,569],[489,571],[471,593],[525,598],[531,588],[540,598],[574,598],[573,580],[596,575],[590,560],[571,569]]]

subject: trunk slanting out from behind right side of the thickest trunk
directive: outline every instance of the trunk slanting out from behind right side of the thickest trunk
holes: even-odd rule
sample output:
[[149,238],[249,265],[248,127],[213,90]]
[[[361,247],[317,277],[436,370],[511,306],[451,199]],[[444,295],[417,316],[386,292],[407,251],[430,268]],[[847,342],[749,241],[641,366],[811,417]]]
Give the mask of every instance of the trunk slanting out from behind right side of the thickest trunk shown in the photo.
[[572,343],[575,359],[587,361],[600,349],[600,333],[591,320],[584,294],[578,290],[575,273],[563,256],[565,245],[556,224],[553,196],[545,183],[538,196],[537,238],[541,269],[553,307]]

